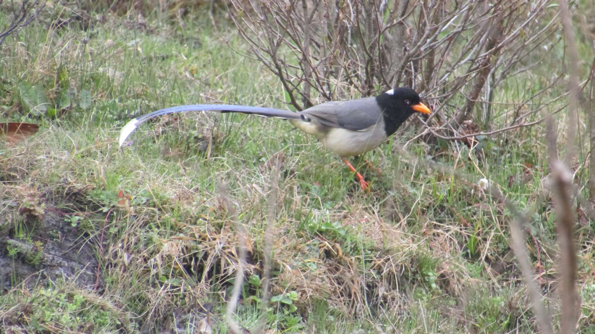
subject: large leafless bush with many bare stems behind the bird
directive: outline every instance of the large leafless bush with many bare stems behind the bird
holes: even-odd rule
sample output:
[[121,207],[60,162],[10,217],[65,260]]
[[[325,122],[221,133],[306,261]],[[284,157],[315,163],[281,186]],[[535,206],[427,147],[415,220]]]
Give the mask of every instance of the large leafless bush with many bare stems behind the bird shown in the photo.
[[[294,108],[412,86],[430,100],[431,117],[437,116],[428,131],[444,137],[457,135],[476,109],[481,124],[491,127],[494,92],[540,64],[552,49],[540,46],[559,41],[552,37],[559,13],[548,10],[550,5],[550,0],[230,0],[229,12],[252,55],[277,75]],[[527,125],[525,118],[538,108],[522,113],[521,107],[534,97],[504,109],[501,115],[513,116],[508,124],[500,122],[503,128]]]

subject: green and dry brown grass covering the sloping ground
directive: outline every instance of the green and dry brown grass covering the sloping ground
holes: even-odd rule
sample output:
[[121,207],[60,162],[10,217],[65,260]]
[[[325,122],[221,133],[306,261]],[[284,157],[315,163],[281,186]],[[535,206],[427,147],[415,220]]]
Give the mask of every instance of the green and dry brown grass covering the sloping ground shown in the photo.
[[[246,52],[230,24],[217,20],[217,29],[204,15],[184,20],[184,27],[149,20],[148,30],[111,15],[87,31],[75,23],[49,31],[35,23],[0,46],[3,120],[41,126],[25,143],[0,147],[0,234],[39,253],[48,238],[60,240],[61,230],[42,237],[35,223],[57,215],[77,228],[81,244],[92,247],[101,264],[98,289],[68,275],[57,281],[42,275],[23,285],[14,276],[0,297],[4,326],[43,333],[168,326],[190,332],[199,321],[195,305],[211,303],[214,330],[226,332],[237,239],[217,191],[224,180],[248,229],[247,277],[255,275],[243,286],[237,320],[253,326],[262,298],[256,282],[272,174],[267,162],[282,153],[274,221],[277,298],[267,311],[273,332],[534,331],[509,246],[512,216],[476,182],[485,176],[521,209],[536,206],[529,228],[551,283],[555,216],[550,203],[536,199],[547,174],[540,127],[486,138],[482,155],[461,143],[419,140],[403,155],[397,147],[415,136],[409,128],[367,155],[382,174],[361,164],[371,194],[359,191],[342,162],[314,138],[277,119],[180,115],[175,124],[143,125],[129,147],[118,149],[118,131],[130,115],[165,106],[284,108],[278,80],[230,49],[226,43]],[[532,84],[536,77],[519,78],[498,98],[529,96],[527,87],[540,89]],[[158,134],[158,127],[167,131]],[[421,163],[428,156],[476,178],[430,169]],[[129,200],[118,197],[120,191]],[[579,231],[585,332],[594,321],[590,226],[587,219]],[[527,245],[537,263],[536,244],[530,238]],[[35,251],[10,242],[4,248],[0,254],[12,265],[45,269]],[[76,257],[76,250],[67,256]],[[555,298],[546,276],[542,288]],[[558,307],[552,302],[550,309]]]

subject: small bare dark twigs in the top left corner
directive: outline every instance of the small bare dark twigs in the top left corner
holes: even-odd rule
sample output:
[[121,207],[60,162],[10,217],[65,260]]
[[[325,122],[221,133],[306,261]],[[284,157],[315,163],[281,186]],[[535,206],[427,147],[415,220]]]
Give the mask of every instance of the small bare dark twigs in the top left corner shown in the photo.
[[8,26],[5,27],[3,30],[0,30],[0,45],[4,43],[4,40],[10,34],[31,23],[33,19],[37,17],[39,11],[42,10],[46,4],[46,1],[40,0],[11,0],[10,4],[3,4],[3,2],[4,0],[0,0],[0,12],[6,11],[11,13],[12,16],[10,20],[8,20]]

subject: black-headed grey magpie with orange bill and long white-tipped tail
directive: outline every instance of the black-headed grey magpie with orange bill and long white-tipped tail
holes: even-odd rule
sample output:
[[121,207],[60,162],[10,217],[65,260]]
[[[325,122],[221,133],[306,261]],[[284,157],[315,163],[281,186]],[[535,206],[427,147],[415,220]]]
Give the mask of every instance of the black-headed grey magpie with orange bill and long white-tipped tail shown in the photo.
[[358,177],[364,190],[368,188],[368,182],[353,168],[347,157],[362,155],[380,146],[415,112],[430,114],[430,109],[420,102],[415,90],[406,87],[391,89],[374,97],[326,102],[300,112],[255,106],[185,105],[132,119],[120,131],[120,146],[139,124],[156,116],[188,111],[240,112],[289,119],[294,127],[314,135],[326,149],[338,155]]

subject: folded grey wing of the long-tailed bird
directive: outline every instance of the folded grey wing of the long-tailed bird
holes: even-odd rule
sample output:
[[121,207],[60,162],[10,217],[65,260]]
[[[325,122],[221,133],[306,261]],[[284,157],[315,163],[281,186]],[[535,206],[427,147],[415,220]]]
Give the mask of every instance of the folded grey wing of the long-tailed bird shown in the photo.
[[378,108],[375,97],[326,102],[299,114],[314,118],[328,127],[353,131],[364,130],[382,121],[382,111]]

